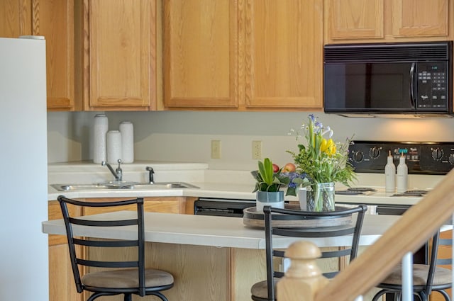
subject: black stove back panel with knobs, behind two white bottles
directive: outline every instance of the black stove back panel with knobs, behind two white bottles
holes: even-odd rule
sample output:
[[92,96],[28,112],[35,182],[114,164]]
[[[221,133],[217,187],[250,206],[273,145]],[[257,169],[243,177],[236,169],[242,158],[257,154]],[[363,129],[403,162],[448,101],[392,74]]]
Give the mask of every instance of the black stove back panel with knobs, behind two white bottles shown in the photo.
[[409,174],[444,175],[454,167],[454,142],[352,141],[348,152],[358,173],[384,173],[389,152],[395,166],[405,156]]

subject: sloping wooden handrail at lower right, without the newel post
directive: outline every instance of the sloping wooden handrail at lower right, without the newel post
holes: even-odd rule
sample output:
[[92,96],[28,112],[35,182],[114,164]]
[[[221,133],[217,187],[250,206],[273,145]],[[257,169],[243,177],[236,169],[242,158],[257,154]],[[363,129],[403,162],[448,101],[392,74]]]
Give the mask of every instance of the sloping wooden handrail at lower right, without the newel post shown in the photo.
[[[385,278],[408,252],[414,252],[445,224],[454,212],[454,169],[436,188],[385,232],[377,242],[315,294],[314,301],[351,301]],[[286,300],[281,300],[286,301]],[[309,300],[304,300],[309,301]]]

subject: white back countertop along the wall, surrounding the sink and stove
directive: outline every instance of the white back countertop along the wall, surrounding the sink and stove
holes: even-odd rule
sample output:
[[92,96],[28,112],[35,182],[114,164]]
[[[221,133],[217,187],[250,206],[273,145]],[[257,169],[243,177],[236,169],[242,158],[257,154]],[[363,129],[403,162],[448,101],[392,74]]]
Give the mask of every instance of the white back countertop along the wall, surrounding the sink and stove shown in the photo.
[[[182,181],[191,183],[199,188],[170,188],[150,190],[96,190],[96,191],[57,191],[49,186],[48,200],[56,200],[58,195],[67,198],[121,198],[121,197],[204,197],[224,199],[255,200],[253,189],[255,182],[250,171],[221,171],[210,170],[204,163],[178,162],[137,162],[123,164],[123,180],[148,181],[146,166],[155,169],[155,181]],[[50,164],[48,166],[48,183],[101,183],[113,180],[106,167],[90,162],[74,162],[65,164]],[[358,174],[358,183],[353,186],[372,187],[377,191],[363,195],[336,195],[336,203],[365,203],[368,205],[414,205],[421,197],[393,197],[393,193],[384,193],[384,175]],[[409,188],[433,188],[443,176],[410,175]],[[382,183],[383,182],[383,183]],[[336,185],[336,190],[342,190]],[[296,197],[286,197],[286,200],[297,200]]]

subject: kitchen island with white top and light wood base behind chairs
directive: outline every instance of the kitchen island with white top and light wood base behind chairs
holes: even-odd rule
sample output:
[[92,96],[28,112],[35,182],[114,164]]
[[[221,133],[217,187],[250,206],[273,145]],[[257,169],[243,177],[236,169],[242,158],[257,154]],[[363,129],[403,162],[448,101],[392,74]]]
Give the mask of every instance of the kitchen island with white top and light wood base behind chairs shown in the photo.
[[[128,217],[133,212],[104,213],[105,219]],[[399,216],[366,215],[360,245],[373,244]],[[43,232],[65,234],[62,220],[43,222]],[[134,229],[124,227],[112,232],[99,228],[87,231],[74,227],[77,235],[102,239],[128,238]],[[320,247],[349,244],[348,237],[308,239]],[[175,287],[167,291],[169,300],[246,301],[250,287],[265,279],[265,233],[263,229],[245,227],[236,217],[174,215],[145,212],[147,266],[164,269],[175,275]],[[286,247],[294,239],[276,243]],[[120,256],[120,254],[90,254]],[[125,256],[125,254],[121,254]],[[148,299],[144,299],[148,300]],[[149,300],[153,300],[150,299]]]

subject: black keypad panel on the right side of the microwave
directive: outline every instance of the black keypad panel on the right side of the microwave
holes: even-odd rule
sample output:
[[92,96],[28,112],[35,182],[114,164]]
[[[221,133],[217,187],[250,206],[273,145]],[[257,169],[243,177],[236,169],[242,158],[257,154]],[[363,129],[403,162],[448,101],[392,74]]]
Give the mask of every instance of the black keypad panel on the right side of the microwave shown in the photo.
[[419,62],[416,79],[416,108],[445,110],[448,104],[447,63]]

